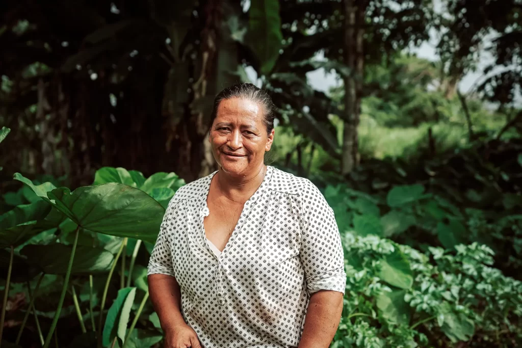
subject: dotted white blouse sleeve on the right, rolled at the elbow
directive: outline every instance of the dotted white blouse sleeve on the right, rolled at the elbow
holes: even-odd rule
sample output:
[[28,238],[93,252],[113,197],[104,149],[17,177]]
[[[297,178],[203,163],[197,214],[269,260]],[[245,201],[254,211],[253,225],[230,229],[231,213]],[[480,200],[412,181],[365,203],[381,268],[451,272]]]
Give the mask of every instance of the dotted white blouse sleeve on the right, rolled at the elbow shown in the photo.
[[301,193],[301,262],[310,294],[319,290],[345,293],[346,272],[339,228],[333,209],[306,179]]

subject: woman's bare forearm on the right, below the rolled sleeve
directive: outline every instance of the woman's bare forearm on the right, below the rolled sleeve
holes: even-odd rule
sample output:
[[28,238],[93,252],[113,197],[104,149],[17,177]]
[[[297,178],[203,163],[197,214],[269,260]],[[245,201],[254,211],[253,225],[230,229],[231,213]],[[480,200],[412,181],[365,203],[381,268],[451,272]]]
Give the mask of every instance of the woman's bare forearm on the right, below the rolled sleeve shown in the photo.
[[342,313],[342,293],[321,290],[310,297],[298,348],[327,348],[334,339]]

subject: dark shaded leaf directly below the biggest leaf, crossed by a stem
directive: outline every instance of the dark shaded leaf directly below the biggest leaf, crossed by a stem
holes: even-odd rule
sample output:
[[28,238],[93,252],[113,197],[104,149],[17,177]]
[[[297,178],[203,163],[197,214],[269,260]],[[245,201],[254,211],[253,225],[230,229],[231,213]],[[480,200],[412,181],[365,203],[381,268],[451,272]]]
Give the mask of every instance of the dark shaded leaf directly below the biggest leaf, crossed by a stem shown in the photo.
[[[65,274],[73,247],[59,243],[49,245],[29,244],[20,250],[27,262],[48,274]],[[108,271],[114,256],[104,249],[78,245],[73,262],[73,274],[89,274]]]

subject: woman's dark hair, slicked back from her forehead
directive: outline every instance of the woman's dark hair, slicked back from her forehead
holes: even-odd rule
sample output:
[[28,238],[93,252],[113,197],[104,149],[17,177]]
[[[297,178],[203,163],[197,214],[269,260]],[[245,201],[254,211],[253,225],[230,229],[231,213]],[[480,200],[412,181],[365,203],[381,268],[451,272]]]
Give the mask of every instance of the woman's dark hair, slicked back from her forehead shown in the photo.
[[252,85],[252,83],[237,83],[223,89],[216,95],[214,105],[212,106],[212,114],[210,115],[210,127],[212,127],[212,123],[218,114],[219,103],[225,99],[232,98],[248,99],[263,106],[263,124],[266,127],[266,131],[270,133],[274,129],[276,106],[265,90]]

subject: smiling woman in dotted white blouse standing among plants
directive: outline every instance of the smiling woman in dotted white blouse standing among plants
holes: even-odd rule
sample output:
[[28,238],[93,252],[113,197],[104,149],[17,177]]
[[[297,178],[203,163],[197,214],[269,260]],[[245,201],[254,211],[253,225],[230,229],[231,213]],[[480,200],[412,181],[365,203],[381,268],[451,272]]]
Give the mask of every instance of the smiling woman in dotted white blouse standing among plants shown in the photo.
[[149,261],[165,347],[333,339],[346,286],[334,213],[308,179],[264,164],[273,140],[265,91],[245,83],[217,95],[209,141],[219,170],[176,191]]

